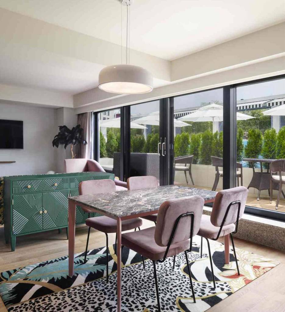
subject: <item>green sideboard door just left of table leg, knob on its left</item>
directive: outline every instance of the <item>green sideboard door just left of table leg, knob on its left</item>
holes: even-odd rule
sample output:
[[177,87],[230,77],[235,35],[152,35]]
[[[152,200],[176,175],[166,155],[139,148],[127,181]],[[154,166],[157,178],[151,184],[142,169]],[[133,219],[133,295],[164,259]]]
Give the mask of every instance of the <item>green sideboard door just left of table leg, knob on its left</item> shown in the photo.
[[43,193],[43,229],[67,227],[68,191]]

